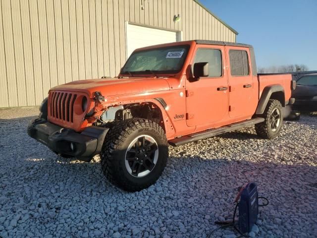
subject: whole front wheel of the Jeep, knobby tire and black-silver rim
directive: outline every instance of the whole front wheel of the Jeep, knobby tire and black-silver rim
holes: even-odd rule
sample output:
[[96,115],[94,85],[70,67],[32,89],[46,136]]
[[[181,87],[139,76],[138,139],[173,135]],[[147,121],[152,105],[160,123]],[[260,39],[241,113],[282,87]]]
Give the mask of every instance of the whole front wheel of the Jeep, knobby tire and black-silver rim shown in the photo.
[[114,122],[101,153],[106,178],[126,191],[154,184],[166,167],[168,144],[164,130],[148,119]]

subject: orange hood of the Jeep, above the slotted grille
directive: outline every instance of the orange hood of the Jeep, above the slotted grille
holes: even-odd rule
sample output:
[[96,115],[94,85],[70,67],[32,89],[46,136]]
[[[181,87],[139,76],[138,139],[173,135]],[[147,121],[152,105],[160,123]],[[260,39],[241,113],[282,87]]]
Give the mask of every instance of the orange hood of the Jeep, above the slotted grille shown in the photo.
[[91,97],[99,91],[103,96],[117,96],[136,93],[149,93],[169,90],[165,78],[100,78],[73,81],[53,87],[51,90],[85,92]]

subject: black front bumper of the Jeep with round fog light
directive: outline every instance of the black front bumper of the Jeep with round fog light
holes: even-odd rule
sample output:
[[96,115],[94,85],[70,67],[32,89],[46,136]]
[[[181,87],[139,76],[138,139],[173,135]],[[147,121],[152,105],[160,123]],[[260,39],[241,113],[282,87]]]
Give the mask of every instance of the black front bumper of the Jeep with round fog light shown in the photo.
[[109,128],[88,126],[82,132],[76,132],[45,119],[34,119],[28,125],[29,136],[45,144],[53,152],[86,162],[101,152],[108,130]]

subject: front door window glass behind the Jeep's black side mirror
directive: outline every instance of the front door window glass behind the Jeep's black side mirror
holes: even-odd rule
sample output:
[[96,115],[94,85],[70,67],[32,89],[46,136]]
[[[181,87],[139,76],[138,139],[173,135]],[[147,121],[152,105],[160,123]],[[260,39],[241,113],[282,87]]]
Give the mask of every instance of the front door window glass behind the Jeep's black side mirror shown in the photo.
[[199,62],[209,63],[209,77],[220,77],[222,75],[222,58],[220,50],[198,49],[194,63]]

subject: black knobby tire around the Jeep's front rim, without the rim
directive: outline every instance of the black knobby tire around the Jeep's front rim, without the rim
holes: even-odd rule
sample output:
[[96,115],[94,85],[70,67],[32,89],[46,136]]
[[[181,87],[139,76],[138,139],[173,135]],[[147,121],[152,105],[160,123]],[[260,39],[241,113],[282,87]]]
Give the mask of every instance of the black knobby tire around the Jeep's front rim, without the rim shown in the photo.
[[[101,165],[106,178],[125,191],[140,191],[154,184],[166,167],[168,143],[164,130],[148,119],[126,119],[113,122],[106,134],[101,152]],[[126,151],[141,135],[151,136],[157,143],[158,160],[149,174],[141,178],[132,176],[126,168]]]

